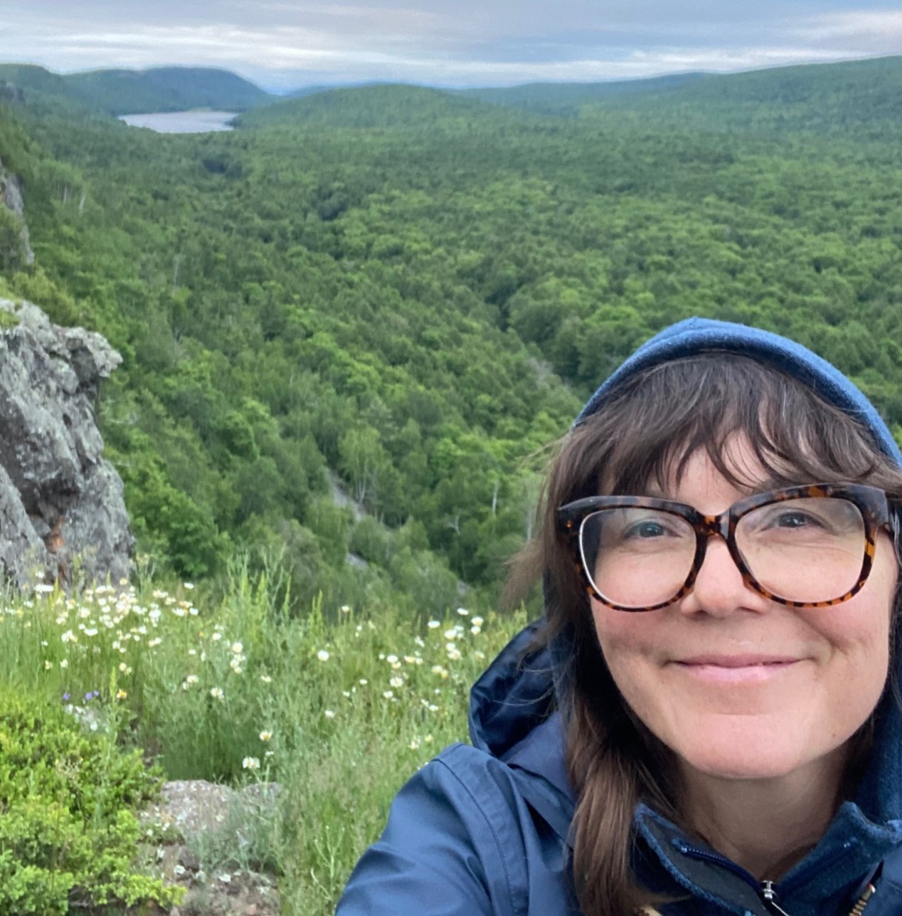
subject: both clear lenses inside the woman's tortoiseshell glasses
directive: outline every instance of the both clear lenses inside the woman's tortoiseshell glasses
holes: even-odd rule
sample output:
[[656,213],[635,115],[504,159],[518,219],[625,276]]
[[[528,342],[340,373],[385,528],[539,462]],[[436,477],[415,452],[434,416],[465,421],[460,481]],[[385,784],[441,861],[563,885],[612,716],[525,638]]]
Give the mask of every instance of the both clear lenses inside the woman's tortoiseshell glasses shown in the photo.
[[[847,499],[802,497],[753,509],[736,525],[748,570],[788,601],[831,601],[858,582],[865,548],[861,510]],[[592,584],[613,605],[665,604],[692,571],[695,529],[655,508],[601,509],[581,526],[582,560]]]

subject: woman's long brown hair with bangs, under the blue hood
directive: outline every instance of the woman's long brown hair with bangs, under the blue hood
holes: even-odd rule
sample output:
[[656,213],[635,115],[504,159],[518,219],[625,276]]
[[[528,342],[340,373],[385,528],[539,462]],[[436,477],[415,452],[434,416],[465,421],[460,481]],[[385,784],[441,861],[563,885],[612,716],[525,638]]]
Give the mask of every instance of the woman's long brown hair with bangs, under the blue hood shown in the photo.
[[[578,795],[573,875],[585,916],[625,916],[655,902],[632,876],[633,815],[636,803],[646,801],[676,819],[677,800],[668,749],[626,707],[603,661],[555,511],[582,496],[638,495],[651,483],[665,490],[679,483],[699,449],[727,480],[749,485],[743,469],[724,457],[735,435],[747,439],[775,487],[866,483],[886,489],[893,503],[902,497],[902,469],[863,424],[796,378],[737,354],[702,353],[638,372],[564,438],[539,509],[538,536],[517,558],[511,583],[522,592],[543,576],[543,639],[567,649],[556,660],[556,676]],[[853,782],[866,757],[863,742],[850,754],[850,767],[859,771],[849,774]]]

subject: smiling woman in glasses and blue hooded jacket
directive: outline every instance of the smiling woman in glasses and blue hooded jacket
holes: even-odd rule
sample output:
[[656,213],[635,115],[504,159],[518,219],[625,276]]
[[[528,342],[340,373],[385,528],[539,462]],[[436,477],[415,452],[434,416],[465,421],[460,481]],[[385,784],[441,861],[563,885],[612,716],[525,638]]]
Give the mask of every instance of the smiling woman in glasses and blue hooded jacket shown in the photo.
[[340,916],[902,912],[902,454],[831,365],[691,319],[549,474],[545,620],[473,688]]

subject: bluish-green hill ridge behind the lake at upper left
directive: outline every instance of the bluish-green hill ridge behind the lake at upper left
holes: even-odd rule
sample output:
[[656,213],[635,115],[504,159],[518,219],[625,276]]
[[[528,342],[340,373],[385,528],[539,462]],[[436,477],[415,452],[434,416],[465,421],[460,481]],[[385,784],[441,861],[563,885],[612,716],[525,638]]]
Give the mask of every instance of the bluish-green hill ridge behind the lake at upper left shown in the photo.
[[60,75],[43,67],[0,64],[0,81],[26,93],[67,99],[104,114],[213,108],[245,111],[273,96],[235,73],[194,67],[96,70]]

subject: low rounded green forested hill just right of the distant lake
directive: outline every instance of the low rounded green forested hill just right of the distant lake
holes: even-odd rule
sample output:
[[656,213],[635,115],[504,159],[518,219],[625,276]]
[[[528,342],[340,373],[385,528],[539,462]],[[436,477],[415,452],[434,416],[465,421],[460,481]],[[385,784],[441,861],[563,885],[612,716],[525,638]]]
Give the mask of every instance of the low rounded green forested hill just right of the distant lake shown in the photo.
[[486,112],[497,117],[497,108],[479,99],[424,86],[377,83],[274,102],[243,114],[238,119],[238,125],[422,126],[447,118],[468,118]]

